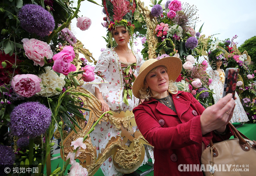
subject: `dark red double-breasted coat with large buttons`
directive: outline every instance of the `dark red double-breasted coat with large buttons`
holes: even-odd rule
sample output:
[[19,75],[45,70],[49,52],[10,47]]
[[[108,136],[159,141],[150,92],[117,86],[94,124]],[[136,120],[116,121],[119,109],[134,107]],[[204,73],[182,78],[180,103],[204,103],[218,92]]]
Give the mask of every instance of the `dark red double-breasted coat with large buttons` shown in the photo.
[[201,164],[202,142],[207,147],[211,139],[229,139],[231,129],[221,137],[214,132],[202,136],[200,115],[205,108],[191,93],[178,91],[171,96],[177,113],[154,98],[133,109],[140,132],[154,146],[154,176],[203,176],[202,172],[181,172],[178,166]]

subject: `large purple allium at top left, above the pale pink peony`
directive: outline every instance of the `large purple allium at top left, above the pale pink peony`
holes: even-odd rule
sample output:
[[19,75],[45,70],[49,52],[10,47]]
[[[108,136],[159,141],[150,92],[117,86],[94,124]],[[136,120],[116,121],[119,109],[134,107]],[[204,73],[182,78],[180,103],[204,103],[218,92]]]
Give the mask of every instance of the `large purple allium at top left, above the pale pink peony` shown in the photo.
[[53,16],[40,5],[24,5],[18,13],[18,18],[23,29],[41,37],[48,35],[55,26]]

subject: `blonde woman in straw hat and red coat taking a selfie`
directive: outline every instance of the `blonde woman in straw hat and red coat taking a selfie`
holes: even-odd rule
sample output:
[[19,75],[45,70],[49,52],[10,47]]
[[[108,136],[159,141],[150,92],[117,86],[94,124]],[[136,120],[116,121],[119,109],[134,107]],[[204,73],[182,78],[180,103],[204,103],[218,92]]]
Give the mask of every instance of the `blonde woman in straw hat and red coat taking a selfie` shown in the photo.
[[211,139],[232,135],[226,126],[235,106],[232,94],[204,109],[191,93],[177,91],[173,84],[181,68],[176,57],[149,59],[133,84],[134,96],[145,99],[133,113],[140,132],[154,146],[154,176],[203,176],[202,171],[183,171],[184,164],[201,164],[202,150]]

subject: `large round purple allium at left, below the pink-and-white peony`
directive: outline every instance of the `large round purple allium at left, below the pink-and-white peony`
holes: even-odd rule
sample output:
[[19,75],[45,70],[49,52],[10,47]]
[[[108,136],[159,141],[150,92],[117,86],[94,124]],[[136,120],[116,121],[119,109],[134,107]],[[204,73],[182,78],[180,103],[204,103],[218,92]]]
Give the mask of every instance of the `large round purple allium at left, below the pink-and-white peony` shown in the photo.
[[26,102],[16,106],[10,118],[10,128],[14,135],[36,137],[49,127],[51,110],[39,102]]

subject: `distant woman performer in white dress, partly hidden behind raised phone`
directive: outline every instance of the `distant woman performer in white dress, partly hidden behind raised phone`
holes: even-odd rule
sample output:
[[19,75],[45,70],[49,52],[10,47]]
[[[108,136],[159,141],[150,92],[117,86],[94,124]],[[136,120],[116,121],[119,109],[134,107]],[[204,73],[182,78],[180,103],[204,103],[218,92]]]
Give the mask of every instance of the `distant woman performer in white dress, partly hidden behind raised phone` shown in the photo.
[[[213,99],[214,103],[217,103],[220,98],[223,96],[223,88],[224,88],[224,83],[225,83],[225,72],[221,68],[222,65],[222,60],[224,59],[223,52],[221,49],[216,48],[214,51],[212,51],[209,54],[209,60],[214,63],[212,66],[212,69],[209,71],[209,76],[212,78],[212,83],[209,85],[210,89],[213,89]],[[215,65],[216,64],[216,65]],[[233,116],[230,120],[230,123],[235,123],[235,122],[247,122],[249,121],[247,114],[245,113],[243,109],[243,105],[240,102],[240,98],[237,94],[235,93],[236,96],[236,106],[234,109]]]

